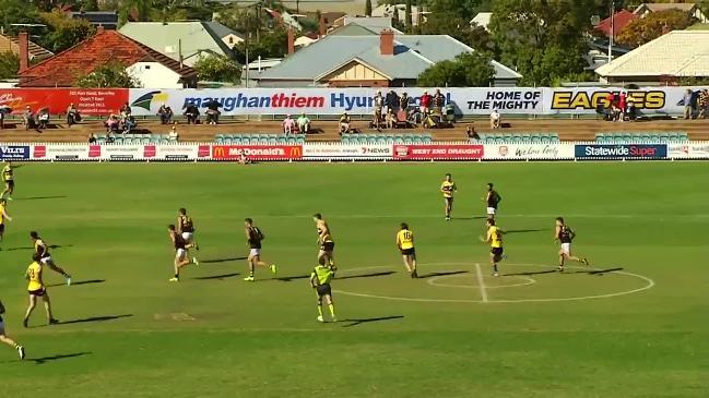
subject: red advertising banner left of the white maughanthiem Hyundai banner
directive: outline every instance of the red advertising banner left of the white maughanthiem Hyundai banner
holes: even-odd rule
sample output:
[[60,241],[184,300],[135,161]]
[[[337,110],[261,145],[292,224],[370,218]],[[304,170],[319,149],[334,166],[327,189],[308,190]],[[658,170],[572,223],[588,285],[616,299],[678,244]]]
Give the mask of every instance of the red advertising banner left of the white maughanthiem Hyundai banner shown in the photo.
[[117,113],[128,98],[128,88],[0,88],[0,106],[9,106],[13,113],[27,106],[35,112],[47,107],[51,114],[66,113],[70,104],[81,114]]

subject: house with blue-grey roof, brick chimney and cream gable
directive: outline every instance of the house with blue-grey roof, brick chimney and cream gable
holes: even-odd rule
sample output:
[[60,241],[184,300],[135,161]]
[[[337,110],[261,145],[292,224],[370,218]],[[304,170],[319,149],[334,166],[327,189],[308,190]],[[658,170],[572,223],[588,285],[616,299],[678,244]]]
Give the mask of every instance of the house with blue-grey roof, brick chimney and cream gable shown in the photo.
[[[412,86],[436,62],[472,51],[447,35],[403,35],[391,29],[356,36],[331,34],[252,80],[261,87]],[[499,62],[493,61],[493,67],[497,86],[513,86],[522,77]]]

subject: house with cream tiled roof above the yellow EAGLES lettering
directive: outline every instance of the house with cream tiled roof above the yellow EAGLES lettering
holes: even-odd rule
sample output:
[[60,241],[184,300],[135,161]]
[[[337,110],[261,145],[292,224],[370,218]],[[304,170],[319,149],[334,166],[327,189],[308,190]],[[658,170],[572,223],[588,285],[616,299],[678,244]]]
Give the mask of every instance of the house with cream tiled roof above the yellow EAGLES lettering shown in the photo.
[[709,77],[709,31],[673,31],[595,70],[601,82],[675,83]]

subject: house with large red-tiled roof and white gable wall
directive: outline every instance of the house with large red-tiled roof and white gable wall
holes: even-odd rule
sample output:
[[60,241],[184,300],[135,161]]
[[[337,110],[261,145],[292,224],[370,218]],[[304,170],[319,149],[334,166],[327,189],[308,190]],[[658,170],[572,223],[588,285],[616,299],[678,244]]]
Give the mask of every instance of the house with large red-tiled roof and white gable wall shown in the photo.
[[[20,36],[22,41],[26,34]],[[145,88],[182,88],[197,85],[197,71],[180,65],[150,47],[117,31],[98,27],[84,41],[27,68],[26,57],[20,58],[19,87],[73,87],[76,79],[108,62],[120,62],[126,71]]]

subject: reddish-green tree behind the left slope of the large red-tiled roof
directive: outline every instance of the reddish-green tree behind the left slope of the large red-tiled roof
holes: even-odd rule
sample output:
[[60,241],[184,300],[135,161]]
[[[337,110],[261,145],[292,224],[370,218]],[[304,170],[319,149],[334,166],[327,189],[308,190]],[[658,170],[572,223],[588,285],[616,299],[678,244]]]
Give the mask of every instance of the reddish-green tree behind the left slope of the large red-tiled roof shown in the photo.
[[88,21],[74,20],[59,10],[42,13],[42,19],[50,28],[45,43],[54,52],[73,47],[96,33]]

